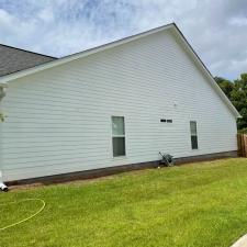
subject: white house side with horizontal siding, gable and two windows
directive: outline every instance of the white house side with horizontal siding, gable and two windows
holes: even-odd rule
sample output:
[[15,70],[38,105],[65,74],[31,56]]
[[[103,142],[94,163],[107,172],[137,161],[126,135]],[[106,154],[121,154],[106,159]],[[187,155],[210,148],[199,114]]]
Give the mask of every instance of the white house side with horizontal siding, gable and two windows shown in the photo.
[[236,155],[239,113],[173,23],[0,83],[4,181]]

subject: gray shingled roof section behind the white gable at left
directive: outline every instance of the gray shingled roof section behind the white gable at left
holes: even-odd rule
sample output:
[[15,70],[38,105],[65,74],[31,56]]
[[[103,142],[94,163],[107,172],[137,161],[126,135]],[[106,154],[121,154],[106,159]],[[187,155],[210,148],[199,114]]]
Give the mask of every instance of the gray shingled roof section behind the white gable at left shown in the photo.
[[57,59],[0,44],[0,77]]

